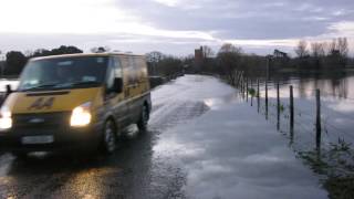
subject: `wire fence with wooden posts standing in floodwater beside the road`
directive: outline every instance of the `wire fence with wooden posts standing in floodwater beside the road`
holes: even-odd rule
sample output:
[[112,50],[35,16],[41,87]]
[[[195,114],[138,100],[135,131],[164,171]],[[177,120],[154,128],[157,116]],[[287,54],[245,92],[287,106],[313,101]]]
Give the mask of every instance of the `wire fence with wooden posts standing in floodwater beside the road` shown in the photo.
[[[317,137],[320,137],[320,143],[316,143],[320,146],[316,147],[327,146],[332,142],[337,142],[333,137],[344,139],[350,144],[354,143],[354,135],[351,128],[343,127],[337,123],[337,121],[345,121],[346,124],[353,124],[354,115],[330,108],[327,105],[329,98],[332,98],[333,102],[345,100],[350,101],[347,103],[352,103],[351,101],[353,101],[354,105],[354,98],[337,97],[331,92],[304,88],[291,83],[267,81],[267,78],[251,80],[244,76],[243,72],[236,73],[237,78],[229,83],[240,91],[246,102],[252,101],[253,106],[262,106],[261,113],[266,115],[267,119],[272,118],[275,123],[288,121],[285,122],[287,125],[282,125],[282,128],[285,129],[280,130],[298,134],[305,133],[313,136],[312,139],[319,139]],[[306,93],[308,97],[291,98],[290,90],[294,88],[296,92]],[[316,96],[316,93],[319,93],[319,96]],[[291,101],[294,103],[291,103]],[[325,140],[330,143],[323,143],[323,136],[327,136]]]

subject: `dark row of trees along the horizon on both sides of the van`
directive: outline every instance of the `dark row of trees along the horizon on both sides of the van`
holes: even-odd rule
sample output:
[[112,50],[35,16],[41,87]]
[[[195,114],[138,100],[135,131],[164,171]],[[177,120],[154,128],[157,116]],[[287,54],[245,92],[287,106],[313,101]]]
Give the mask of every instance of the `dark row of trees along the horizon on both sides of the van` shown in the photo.
[[[240,46],[225,43],[214,52],[210,46],[204,45],[196,50],[195,55],[173,56],[158,51],[146,53],[148,72],[152,76],[171,76],[187,73],[212,73],[235,78],[235,71],[243,71],[246,75],[264,75],[267,65],[269,70],[279,71],[292,69],[299,71],[309,70],[337,70],[345,69],[354,63],[348,56],[348,42],[346,38],[334,39],[331,42],[299,41],[294,48],[295,56],[274,50],[270,55],[246,53]],[[91,52],[100,53],[111,51],[108,46],[91,49]],[[58,49],[38,49],[24,54],[19,51],[10,51],[6,54],[6,67],[2,74],[19,74],[30,57],[58,54],[82,53],[76,46],[61,45]]]

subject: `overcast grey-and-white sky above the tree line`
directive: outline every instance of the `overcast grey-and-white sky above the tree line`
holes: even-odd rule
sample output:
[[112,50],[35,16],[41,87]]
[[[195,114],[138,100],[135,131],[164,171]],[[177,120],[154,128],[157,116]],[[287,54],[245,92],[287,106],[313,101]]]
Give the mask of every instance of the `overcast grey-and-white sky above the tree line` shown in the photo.
[[0,50],[61,44],[187,55],[225,42],[246,52],[292,53],[300,39],[346,36],[354,51],[353,0],[1,0]]

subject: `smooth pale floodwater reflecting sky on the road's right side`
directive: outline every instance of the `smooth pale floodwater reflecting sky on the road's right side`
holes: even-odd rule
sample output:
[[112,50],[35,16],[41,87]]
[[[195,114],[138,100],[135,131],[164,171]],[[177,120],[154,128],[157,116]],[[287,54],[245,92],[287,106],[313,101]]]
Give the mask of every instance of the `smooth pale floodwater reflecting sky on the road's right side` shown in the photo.
[[186,168],[190,198],[325,198],[285,146],[261,115],[233,102],[169,129],[154,151]]

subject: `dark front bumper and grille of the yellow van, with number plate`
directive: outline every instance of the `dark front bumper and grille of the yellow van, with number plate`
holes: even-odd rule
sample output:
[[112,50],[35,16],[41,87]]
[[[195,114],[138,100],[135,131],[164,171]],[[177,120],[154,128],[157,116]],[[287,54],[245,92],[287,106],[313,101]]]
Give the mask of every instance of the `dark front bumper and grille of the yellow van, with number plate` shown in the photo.
[[[70,127],[66,113],[14,115],[13,127],[0,132],[2,151],[54,151],[96,147],[101,142],[102,125]],[[42,118],[42,124],[30,124]]]

